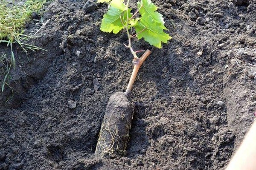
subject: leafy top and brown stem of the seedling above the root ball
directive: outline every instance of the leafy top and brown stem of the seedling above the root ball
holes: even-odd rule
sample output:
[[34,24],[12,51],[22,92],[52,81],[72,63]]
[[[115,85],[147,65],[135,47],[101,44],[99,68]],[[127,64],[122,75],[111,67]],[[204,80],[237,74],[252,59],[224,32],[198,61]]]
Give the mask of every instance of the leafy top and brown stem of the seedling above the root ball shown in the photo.
[[[130,0],[98,0],[97,3],[108,3],[109,8],[107,14],[103,16],[102,24],[100,27],[101,31],[114,34],[119,33],[122,29],[125,29],[128,36],[128,45],[125,47],[129,48],[131,54],[134,56],[134,70],[128,84],[125,94],[131,92],[131,86],[134,83],[137,72],[150,54],[147,50],[141,58],[137,57],[137,53],[140,51],[134,51],[131,45],[131,39],[137,37],[139,40],[144,38],[146,42],[157,48],[162,48],[162,43],[167,43],[168,40],[172,39],[169,34],[163,30],[167,30],[164,26],[163,15],[157,12],[157,6],[151,2],[151,0],[139,0],[137,2],[137,11],[134,14],[131,13],[129,6]],[[138,16],[140,14],[140,17]],[[136,18],[135,18],[136,17]],[[133,34],[133,32],[136,34]]]

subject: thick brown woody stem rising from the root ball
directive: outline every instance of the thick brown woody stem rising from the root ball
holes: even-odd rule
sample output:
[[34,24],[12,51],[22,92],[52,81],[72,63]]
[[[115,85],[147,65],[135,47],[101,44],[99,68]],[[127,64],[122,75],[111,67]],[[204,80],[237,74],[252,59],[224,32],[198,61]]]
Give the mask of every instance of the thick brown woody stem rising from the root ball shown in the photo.
[[130,78],[130,81],[129,81],[128,86],[127,86],[127,89],[125,91],[125,95],[128,95],[128,94],[131,93],[131,88],[132,88],[132,85],[134,84],[134,81],[135,81],[137,73],[140,69],[140,66],[143,64],[143,62],[149,56],[150,53],[151,53],[151,51],[147,50],[147,51],[145,51],[145,53],[140,58],[137,58],[137,59],[134,58],[134,61],[133,61],[134,68],[133,68],[131,78]]

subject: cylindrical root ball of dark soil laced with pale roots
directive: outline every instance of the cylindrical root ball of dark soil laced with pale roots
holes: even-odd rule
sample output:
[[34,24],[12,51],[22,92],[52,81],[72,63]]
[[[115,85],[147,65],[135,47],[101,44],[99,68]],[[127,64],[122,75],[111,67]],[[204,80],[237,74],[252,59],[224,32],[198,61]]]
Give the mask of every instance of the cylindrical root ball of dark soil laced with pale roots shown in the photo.
[[113,94],[108,101],[102,121],[96,154],[100,156],[125,155],[134,106],[121,92]]

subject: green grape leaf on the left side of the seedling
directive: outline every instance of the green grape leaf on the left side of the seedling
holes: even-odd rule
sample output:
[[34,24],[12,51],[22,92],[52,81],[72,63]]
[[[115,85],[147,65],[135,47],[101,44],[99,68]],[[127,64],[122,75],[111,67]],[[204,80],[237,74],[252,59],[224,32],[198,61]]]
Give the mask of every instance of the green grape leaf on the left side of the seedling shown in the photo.
[[[132,16],[131,9],[128,9],[128,16]],[[124,28],[123,24],[126,23],[126,20],[126,11],[111,6],[107,14],[103,15],[100,30],[108,33],[113,31],[114,34],[117,34]]]

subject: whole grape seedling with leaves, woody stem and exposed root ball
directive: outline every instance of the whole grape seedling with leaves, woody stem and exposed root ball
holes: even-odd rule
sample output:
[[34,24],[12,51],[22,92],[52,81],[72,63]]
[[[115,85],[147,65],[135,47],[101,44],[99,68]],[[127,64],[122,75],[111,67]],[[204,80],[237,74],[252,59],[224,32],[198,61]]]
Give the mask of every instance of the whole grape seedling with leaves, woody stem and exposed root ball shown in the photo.
[[150,45],[162,48],[162,43],[167,43],[172,37],[164,32],[167,28],[164,26],[163,15],[157,12],[157,6],[151,0],[138,1],[137,10],[134,14],[131,13],[130,0],[98,0],[97,3],[108,3],[109,5],[108,11],[102,19],[101,31],[118,34],[122,29],[126,30],[128,45],[124,45],[130,49],[134,56],[134,69],[125,93],[117,92],[109,99],[99,133],[96,154],[101,156],[124,155],[129,140],[134,108],[128,101],[127,95],[131,93],[140,66],[151,53],[151,51],[146,50],[142,57],[137,57],[137,53],[143,50],[134,51],[131,39],[144,38]]

